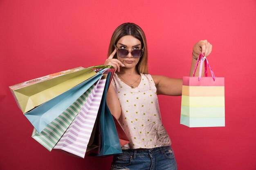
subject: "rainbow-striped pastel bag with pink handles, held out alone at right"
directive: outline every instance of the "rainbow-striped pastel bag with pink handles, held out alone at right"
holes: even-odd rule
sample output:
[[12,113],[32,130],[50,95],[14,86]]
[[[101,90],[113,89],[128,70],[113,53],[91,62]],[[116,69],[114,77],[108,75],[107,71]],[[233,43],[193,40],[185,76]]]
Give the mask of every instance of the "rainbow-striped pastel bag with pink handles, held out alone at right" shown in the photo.
[[[195,77],[199,61],[199,76]],[[205,77],[201,77],[203,62]],[[207,66],[212,77],[207,77]],[[202,54],[196,63],[193,77],[183,77],[180,124],[189,127],[225,126],[224,77],[215,77],[208,60]]]

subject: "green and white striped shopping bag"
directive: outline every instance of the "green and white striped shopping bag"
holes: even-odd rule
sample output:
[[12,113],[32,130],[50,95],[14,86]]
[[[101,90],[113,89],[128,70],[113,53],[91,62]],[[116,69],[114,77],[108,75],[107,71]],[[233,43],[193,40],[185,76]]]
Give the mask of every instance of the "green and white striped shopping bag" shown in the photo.
[[92,85],[82,96],[80,96],[70,107],[68,107],[60,116],[49,123],[46,128],[38,133],[34,128],[32,137],[49,151],[56,145],[58,140],[70,126],[76,115],[81,111],[88,96],[91,94],[95,85]]

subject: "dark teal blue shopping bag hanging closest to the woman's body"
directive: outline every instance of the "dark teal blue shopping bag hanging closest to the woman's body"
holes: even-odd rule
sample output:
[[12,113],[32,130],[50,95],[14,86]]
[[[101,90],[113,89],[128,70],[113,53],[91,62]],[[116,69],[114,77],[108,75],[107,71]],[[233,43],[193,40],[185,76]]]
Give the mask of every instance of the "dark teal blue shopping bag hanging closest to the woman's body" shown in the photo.
[[106,87],[104,89],[103,97],[101,100],[101,111],[100,111],[101,148],[100,148],[100,153],[97,154],[96,156],[122,153],[115,122],[113,120],[112,114],[110,113],[110,110],[106,103],[108,85],[110,84],[110,77],[112,74],[113,72],[108,73],[108,77],[105,85]]

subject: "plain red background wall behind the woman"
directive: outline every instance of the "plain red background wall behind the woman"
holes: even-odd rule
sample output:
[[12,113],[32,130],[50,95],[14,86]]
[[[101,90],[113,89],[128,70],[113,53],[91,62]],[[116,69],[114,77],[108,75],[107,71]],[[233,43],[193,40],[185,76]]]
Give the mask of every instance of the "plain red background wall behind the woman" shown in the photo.
[[32,139],[8,86],[104,63],[124,22],[146,33],[150,74],[187,76],[193,45],[207,39],[225,77],[225,127],[180,125],[181,97],[159,96],[178,169],[255,170],[255,0],[0,0],[0,169],[110,169],[112,157],[50,153]]

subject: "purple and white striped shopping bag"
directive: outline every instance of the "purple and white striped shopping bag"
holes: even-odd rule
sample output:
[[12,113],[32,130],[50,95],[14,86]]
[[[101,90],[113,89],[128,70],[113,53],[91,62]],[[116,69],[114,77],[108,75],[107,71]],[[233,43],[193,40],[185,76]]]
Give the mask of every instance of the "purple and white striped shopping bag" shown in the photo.
[[101,79],[92,90],[85,105],[70,127],[58,141],[54,149],[63,150],[78,157],[85,157],[92,129],[101,104],[106,79]]

